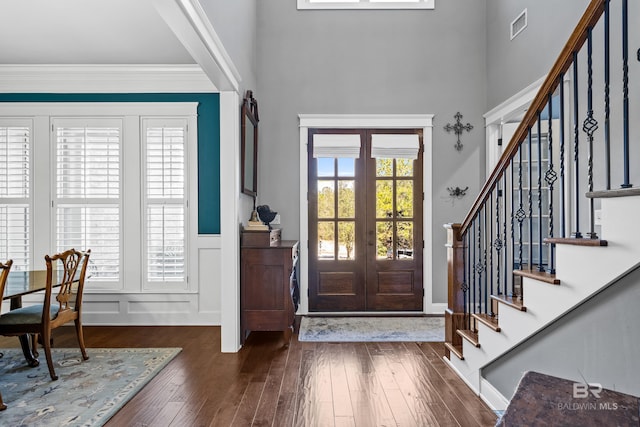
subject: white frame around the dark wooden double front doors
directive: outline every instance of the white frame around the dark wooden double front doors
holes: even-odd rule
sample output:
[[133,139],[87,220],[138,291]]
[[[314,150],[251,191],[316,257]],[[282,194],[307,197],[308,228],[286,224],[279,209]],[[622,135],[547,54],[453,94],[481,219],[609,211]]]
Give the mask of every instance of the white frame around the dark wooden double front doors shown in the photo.
[[[299,114],[300,121],[300,263],[298,314],[308,314],[309,277],[309,169],[307,145],[309,129],[422,129],[423,159],[423,311],[442,314],[433,305],[433,114]],[[320,314],[314,312],[314,314]],[[334,313],[335,314],[335,313]],[[345,313],[346,314],[346,313]],[[360,313],[362,314],[362,313]]]

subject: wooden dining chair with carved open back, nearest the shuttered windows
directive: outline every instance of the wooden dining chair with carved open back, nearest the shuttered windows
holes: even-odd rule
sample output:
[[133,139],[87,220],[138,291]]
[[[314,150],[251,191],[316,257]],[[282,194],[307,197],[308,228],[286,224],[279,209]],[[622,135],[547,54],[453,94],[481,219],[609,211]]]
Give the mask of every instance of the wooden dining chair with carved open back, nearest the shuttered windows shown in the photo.
[[[86,252],[69,249],[53,256],[46,255],[44,259],[47,263],[47,286],[43,303],[18,308],[0,315],[0,335],[31,334],[34,337],[34,354],[37,354],[38,343],[35,338],[40,336],[52,380],[58,379],[51,358],[53,329],[73,320],[82,358],[84,360],[89,358],[82,334],[82,294],[90,254],[91,249]],[[57,284],[60,284],[60,288],[55,300],[52,301],[53,288]]]

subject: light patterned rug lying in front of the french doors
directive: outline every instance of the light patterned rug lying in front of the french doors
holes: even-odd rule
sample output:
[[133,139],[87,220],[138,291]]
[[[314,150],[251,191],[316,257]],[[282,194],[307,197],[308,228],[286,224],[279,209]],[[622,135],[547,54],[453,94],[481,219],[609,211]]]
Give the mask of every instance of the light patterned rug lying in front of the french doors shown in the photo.
[[300,322],[300,341],[444,341],[444,317],[309,317]]

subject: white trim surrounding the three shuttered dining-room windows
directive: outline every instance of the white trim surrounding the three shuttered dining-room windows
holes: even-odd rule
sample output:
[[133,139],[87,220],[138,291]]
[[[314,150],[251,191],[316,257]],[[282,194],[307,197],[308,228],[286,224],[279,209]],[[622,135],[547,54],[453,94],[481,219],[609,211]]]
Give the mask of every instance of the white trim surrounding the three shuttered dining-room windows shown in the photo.
[[[51,119],[53,117],[104,117],[120,118],[123,120],[123,173],[125,175],[138,176],[141,167],[140,147],[141,119],[143,117],[157,117],[162,119],[182,118],[187,120],[187,162],[191,166],[185,179],[187,180],[188,193],[186,195],[189,209],[187,211],[187,224],[185,229],[185,250],[187,279],[186,285],[174,286],[172,282],[166,282],[163,288],[148,289],[143,287],[142,280],[142,238],[126,242],[127,236],[141,230],[141,218],[122,225],[123,263],[130,257],[138,257],[137,263],[129,263],[121,267],[121,277],[118,284],[112,286],[94,286],[86,289],[87,293],[189,293],[199,292],[198,272],[198,102],[0,102],[0,117],[10,120],[28,119],[33,121],[33,157],[31,159],[34,172],[32,180],[33,213],[31,230],[33,236],[32,268],[43,269],[44,254],[51,253],[55,241],[52,240],[53,213],[50,202],[52,164],[51,157]],[[136,143],[136,141],[139,141]],[[37,145],[37,146],[36,146]],[[140,213],[141,188],[122,184],[123,217],[131,213]],[[43,191],[45,193],[43,193]],[[47,197],[36,197],[35,194],[47,194]],[[45,200],[46,199],[46,200]],[[135,264],[135,265],[132,265]]]

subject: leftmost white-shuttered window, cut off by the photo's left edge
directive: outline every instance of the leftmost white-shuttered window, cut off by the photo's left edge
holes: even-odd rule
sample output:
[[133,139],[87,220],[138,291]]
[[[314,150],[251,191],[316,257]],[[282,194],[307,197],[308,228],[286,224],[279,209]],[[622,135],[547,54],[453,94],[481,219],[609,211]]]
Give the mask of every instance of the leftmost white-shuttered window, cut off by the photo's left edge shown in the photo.
[[0,260],[30,268],[30,120],[0,120]]

